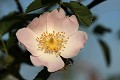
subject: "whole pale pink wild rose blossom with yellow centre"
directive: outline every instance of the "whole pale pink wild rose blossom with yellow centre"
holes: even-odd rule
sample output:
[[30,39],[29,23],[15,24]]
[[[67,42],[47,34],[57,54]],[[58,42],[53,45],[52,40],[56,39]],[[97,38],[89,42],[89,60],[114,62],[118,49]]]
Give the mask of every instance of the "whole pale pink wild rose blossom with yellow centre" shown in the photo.
[[32,54],[30,59],[35,66],[46,66],[49,72],[54,72],[65,65],[60,56],[71,58],[84,47],[88,37],[78,28],[75,15],[66,16],[60,8],[34,18],[16,36]]

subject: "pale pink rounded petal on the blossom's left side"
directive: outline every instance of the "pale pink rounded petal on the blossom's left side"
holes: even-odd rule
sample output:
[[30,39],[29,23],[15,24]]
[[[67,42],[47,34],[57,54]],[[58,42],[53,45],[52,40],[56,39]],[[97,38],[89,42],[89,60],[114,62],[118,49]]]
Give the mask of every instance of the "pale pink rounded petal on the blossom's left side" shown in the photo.
[[19,29],[16,36],[32,55],[39,56],[43,54],[42,51],[38,50],[38,42],[36,41],[37,35],[29,28]]

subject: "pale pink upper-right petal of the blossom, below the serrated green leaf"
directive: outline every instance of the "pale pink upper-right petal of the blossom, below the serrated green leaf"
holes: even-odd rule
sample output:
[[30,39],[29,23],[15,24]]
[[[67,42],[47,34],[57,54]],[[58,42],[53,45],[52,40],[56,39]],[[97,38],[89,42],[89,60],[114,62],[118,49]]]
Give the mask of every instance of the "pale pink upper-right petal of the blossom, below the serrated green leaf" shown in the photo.
[[47,25],[48,32],[65,32],[67,36],[71,36],[79,28],[77,18],[74,15],[70,17],[66,16],[60,19],[50,13],[48,15]]

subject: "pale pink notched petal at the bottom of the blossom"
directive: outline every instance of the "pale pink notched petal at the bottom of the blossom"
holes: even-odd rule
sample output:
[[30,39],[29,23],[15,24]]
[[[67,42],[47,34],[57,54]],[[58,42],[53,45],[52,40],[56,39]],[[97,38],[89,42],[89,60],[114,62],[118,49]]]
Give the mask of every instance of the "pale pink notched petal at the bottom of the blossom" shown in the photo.
[[54,53],[45,53],[39,57],[30,56],[30,58],[35,66],[46,66],[49,72],[55,72],[64,67],[64,62],[60,56],[56,56]]

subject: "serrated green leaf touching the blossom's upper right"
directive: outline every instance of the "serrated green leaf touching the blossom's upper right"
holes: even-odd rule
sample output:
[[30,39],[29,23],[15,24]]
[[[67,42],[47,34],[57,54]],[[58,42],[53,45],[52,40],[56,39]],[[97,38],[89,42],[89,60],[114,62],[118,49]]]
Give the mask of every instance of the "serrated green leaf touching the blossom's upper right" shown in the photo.
[[93,16],[86,6],[75,1],[70,1],[70,3],[63,2],[62,5],[71,9],[73,13],[77,16],[79,22],[81,21],[84,25],[90,26]]

